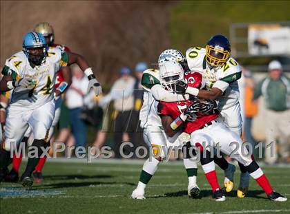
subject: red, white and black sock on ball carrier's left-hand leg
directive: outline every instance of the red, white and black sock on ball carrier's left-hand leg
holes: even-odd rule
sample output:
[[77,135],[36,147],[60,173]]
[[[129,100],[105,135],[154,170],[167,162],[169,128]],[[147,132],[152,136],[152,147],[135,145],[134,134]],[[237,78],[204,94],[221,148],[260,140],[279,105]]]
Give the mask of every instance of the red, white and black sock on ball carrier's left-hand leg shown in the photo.
[[211,158],[211,153],[209,151],[205,152],[205,156],[200,153],[200,162],[202,164],[202,169],[206,175],[206,180],[211,185],[211,189],[213,192],[220,189],[220,185],[218,184],[218,177],[215,171],[215,162],[213,158]]

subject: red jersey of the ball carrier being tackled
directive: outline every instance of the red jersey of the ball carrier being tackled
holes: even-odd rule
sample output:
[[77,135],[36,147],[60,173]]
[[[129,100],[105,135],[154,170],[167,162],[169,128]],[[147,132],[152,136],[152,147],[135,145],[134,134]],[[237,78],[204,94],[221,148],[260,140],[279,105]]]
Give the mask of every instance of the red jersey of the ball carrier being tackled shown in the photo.
[[[203,87],[202,74],[200,74],[199,72],[188,72],[184,74],[184,78],[186,79],[187,85],[189,85],[190,87]],[[166,103],[161,101],[158,104],[158,114],[171,116],[171,118],[175,119],[180,116],[180,114],[185,111],[186,108],[189,107],[189,105],[191,105],[192,103],[193,101],[191,100],[185,100],[175,103]],[[206,116],[200,114],[190,116],[186,119],[186,122],[184,122],[183,131],[186,133],[192,133],[193,131],[200,129],[201,127],[206,125],[206,123],[211,122],[216,118],[218,118],[218,112]]]

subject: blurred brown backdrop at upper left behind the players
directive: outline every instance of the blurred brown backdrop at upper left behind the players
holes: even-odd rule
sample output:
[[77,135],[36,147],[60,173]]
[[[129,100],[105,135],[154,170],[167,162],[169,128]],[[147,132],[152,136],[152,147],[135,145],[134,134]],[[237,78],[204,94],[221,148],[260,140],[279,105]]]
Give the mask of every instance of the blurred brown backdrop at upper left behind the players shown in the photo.
[[[170,45],[168,1],[1,1],[1,65],[21,50],[39,21],[55,28],[57,43],[83,54],[104,83],[124,65],[157,62]],[[11,15],[13,14],[13,15]],[[154,66],[154,65],[152,65]]]

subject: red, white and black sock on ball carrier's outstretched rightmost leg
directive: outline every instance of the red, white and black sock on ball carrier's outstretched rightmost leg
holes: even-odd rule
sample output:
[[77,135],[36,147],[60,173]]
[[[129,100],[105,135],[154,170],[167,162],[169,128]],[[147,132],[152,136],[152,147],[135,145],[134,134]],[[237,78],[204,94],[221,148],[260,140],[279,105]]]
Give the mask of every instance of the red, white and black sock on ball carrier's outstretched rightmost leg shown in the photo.
[[255,162],[255,160],[251,162],[247,169],[251,177],[253,177],[253,179],[255,179],[255,181],[258,182],[258,184],[262,187],[266,195],[269,195],[273,189],[269,183],[269,180],[267,179],[266,175],[264,175],[257,162]]

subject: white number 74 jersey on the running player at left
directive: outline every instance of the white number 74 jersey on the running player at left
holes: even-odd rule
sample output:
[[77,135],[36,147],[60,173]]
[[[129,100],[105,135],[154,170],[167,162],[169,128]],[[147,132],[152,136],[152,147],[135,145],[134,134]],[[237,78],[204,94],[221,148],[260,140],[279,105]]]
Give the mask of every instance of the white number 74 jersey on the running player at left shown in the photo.
[[10,108],[37,109],[48,103],[53,98],[53,89],[57,71],[68,63],[68,54],[61,54],[59,48],[50,47],[45,63],[31,67],[27,56],[21,51],[14,54],[6,61],[2,74],[11,76],[14,80],[19,78],[32,78],[35,87],[26,89],[14,88],[10,98]]

